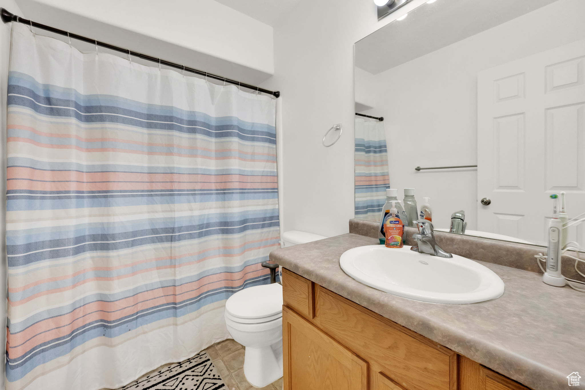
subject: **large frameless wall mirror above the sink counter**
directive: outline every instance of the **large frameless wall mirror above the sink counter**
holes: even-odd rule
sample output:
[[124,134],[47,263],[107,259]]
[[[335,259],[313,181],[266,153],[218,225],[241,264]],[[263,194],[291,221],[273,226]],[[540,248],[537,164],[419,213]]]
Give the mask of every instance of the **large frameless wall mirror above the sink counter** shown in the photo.
[[436,230],[542,245],[550,195],[585,212],[585,1],[429,2],[355,44],[355,91],[356,218],[414,188]]

